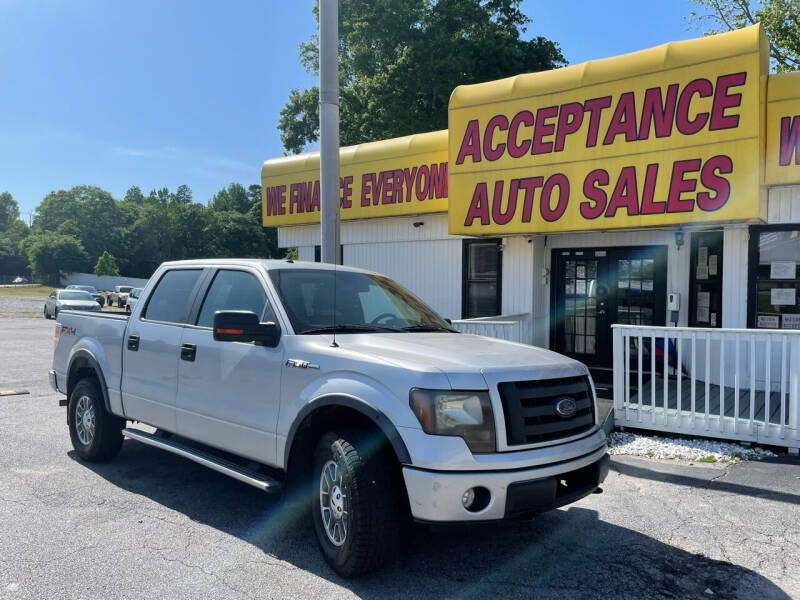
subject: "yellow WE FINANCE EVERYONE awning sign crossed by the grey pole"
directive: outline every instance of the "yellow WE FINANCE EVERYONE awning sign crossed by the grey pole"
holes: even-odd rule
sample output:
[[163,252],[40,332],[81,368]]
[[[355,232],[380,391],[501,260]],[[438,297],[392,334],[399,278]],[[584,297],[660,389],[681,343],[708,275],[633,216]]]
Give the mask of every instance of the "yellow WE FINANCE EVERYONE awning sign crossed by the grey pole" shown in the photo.
[[[342,148],[340,217],[447,211],[447,132]],[[319,223],[319,152],[268,160],[261,170],[264,226]]]

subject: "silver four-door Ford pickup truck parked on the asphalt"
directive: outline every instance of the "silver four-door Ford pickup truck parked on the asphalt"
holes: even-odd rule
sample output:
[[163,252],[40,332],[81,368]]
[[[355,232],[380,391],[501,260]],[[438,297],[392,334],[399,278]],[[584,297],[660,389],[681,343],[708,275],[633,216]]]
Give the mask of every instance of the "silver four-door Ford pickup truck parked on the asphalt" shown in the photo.
[[288,487],[344,576],[392,558],[408,518],[529,516],[608,472],[584,365],[458,333],[368,271],[165,263],[130,317],[62,311],[55,335],[78,456],[110,459],[125,437]]

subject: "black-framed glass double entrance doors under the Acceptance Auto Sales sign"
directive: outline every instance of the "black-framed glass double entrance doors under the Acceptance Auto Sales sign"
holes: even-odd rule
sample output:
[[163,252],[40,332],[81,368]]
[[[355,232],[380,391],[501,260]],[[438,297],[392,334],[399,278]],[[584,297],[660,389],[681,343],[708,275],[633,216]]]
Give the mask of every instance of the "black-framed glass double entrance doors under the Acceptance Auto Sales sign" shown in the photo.
[[612,324],[666,323],[666,246],[558,249],[551,265],[555,351],[610,368]]

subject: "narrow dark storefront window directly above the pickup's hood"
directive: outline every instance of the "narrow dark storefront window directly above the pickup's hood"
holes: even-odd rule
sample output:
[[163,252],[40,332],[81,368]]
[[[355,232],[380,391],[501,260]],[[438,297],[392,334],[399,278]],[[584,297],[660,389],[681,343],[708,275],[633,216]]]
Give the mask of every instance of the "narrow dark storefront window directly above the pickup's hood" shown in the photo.
[[500,248],[500,240],[464,241],[463,318],[500,314]]

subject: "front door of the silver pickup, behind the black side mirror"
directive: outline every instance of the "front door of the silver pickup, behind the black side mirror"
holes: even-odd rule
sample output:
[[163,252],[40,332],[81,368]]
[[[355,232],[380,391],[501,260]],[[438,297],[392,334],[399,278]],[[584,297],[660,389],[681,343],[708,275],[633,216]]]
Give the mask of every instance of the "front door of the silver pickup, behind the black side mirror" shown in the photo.
[[216,342],[220,310],[248,310],[276,321],[257,270],[219,269],[193,322],[183,329],[178,367],[178,433],[268,464],[275,464],[283,344]]

